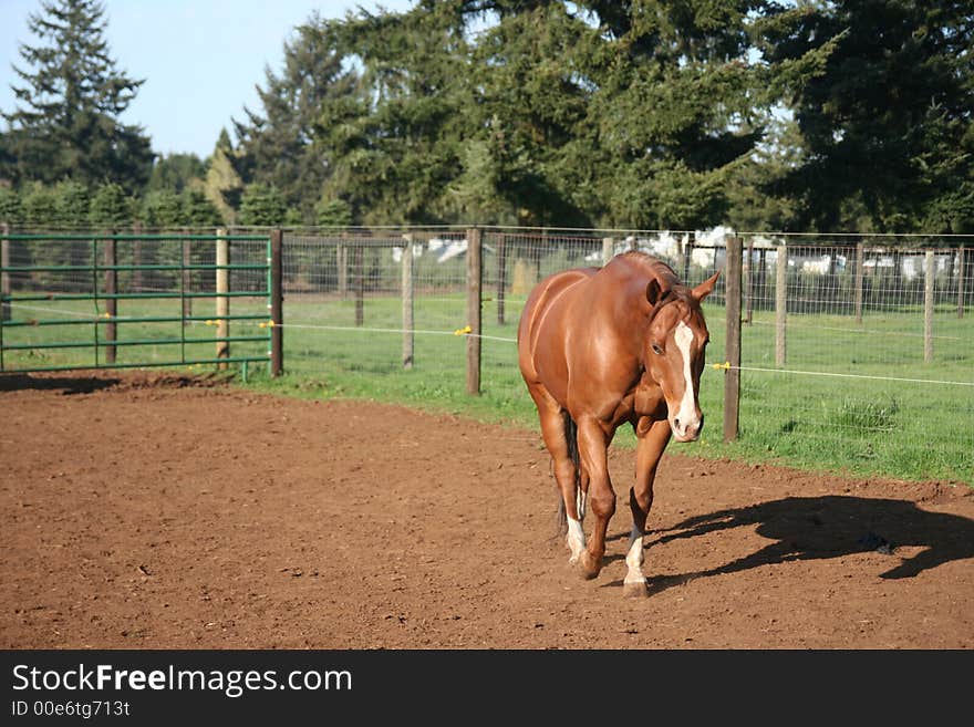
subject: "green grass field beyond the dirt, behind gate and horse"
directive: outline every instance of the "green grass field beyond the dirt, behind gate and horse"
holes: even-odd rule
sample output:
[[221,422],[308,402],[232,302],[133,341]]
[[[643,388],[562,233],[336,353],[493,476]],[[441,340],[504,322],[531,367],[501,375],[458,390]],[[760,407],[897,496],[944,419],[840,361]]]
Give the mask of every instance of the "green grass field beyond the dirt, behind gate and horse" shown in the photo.
[[[537,430],[533,405],[517,370],[517,319],[524,298],[509,298],[507,322],[497,323],[496,303],[484,305],[479,397],[465,394],[466,340],[453,332],[466,324],[460,294],[418,294],[415,303],[414,366],[403,371],[401,301],[370,298],[364,325],[356,330],[354,302],[322,295],[289,295],[284,307],[284,367],[270,380],[251,364],[248,386],[303,397],[367,398],[449,412],[480,420]],[[120,315],[168,315],[179,301],[122,301]],[[213,314],[213,301],[196,301],[194,313]],[[232,312],[263,313],[259,299],[235,299]],[[18,309],[15,319],[95,314],[92,303],[40,303],[50,313]],[[704,305],[711,329],[709,364],[723,361],[723,308]],[[774,314],[756,312],[743,333],[740,438],[721,442],[723,371],[708,365],[701,386],[707,417],[702,440],[671,445],[674,451],[704,457],[775,461],[800,468],[903,479],[946,479],[974,485],[974,318],[957,319],[944,308],[934,323],[934,361],[923,363],[922,313],[900,310],[849,316],[790,315],[786,368],[841,374],[823,376],[748,368],[775,366]],[[235,322],[231,335],[261,335],[256,322]],[[91,341],[92,325],[7,329],[4,343]],[[178,323],[121,323],[120,340],[179,337]],[[188,337],[210,337],[205,322],[186,329]],[[120,362],[165,362],[184,347],[120,346]],[[263,356],[265,342],[234,343],[232,355]],[[188,344],[187,357],[213,357],[214,344]],[[8,351],[4,366],[90,365],[91,349]],[[199,368],[199,367],[198,367]],[[847,377],[847,375],[857,377]],[[879,378],[860,378],[874,376]],[[369,436],[362,433],[362,436]],[[616,443],[632,446],[629,432]]]

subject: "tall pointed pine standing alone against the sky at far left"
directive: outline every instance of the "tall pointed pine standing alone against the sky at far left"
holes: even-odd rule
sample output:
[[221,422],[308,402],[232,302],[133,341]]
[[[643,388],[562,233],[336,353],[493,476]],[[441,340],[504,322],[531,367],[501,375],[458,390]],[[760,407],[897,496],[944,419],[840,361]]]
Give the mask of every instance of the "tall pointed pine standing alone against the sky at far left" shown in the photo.
[[42,0],[28,25],[38,43],[21,44],[22,82],[10,124],[3,175],[15,184],[71,178],[86,186],[114,181],[133,193],[145,185],[153,153],[139,126],[118,117],[142,81],[115,67],[96,0]]

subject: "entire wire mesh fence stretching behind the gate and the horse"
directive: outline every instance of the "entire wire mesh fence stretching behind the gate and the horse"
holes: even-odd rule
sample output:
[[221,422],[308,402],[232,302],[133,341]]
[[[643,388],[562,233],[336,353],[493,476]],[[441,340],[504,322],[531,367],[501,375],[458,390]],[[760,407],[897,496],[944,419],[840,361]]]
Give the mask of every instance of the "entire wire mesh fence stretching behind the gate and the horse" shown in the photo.
[[[740,238],[740,449],[811,466],[974,481],[974,238]],[[532,422],[533,412],[517,366],[517,324],[538,281],[568,268],[598,268],[628,250],[663,260],[690,285],[727,269],[721,230],[483,228],[478,239],[481,401],[494,415],[521,423]],[[215,300],[205,297],[216,285],[207,269],[217,262],[215,250],[209,240],[177,236],[120,246],[118,292],[193,293],[188,300],[120,300],[120,320],[164,312],[165,305],[189,305],[198,319],[216,316]],[[456,228],[286,230],[287,371],[339,395],[452,406],[463,397],[467,341],[477,333],[468,330],[472,252],[469,232]],[[10,241],[4,290],[14,297],[104,293],[103,278],[89,270],[101,255],[84,239]],[[265,256],[260,242],[235,242],[230,251],[240,266],[230,271],[241,293],[234,313],[252,314],[234,322],[234,335],[256,332],[267,314]],[[18,270],[27,264],[38,269]],[[722,276],[704,303],[712,364],[724,361],[725,295]],[[97,295],[94,302],[8,305],[22,319],[105,312]],[[125,331],[139,333],[134,323]],[[6,341],[19,336],[25,344],[17,356],[52,356],[27,345],[44,335],[22,326],[8,329]],[[241,346],[250,342],[232,345],[248,352]],[[159,347],[145,351],[151,360],[165,360]],[[118,355],[129,354],[120,347]],[[708,366],[702,380],[701,405],[711,423],[722,418],[724,378]],[[719,442],[717,428],[709,424],[705,445]]]

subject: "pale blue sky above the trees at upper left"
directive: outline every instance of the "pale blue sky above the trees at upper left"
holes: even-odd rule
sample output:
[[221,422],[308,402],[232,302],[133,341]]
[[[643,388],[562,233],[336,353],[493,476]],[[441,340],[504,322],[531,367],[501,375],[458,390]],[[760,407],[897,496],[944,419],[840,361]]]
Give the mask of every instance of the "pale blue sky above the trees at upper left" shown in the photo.
[[[263,69],[281,66],[282,44],[313,11],[341,18],[359,7],[402,11],[413,0],[104,0],[106,38],[117,67],[145,79],[123,115],[141,124],[157,153],[213,152],[221,127],[244,106],[259,108],[255,84]],[[0,110],[14,107],[11,64],[22,65],[18,46],[34,43],[28,15],[40,0],[0,0]],[[3,125],[6,127],[6,124]]]

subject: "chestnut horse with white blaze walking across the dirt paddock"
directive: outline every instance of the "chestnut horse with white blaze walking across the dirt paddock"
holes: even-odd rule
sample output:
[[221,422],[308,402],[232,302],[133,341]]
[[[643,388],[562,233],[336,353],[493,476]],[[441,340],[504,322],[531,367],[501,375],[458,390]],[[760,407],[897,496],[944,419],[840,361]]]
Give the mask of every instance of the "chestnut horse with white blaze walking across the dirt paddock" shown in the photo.
[[[541,435],[561,490],[559,517],[572,563],[595,578],[615,512],[607,449],[615,430],[635,429],[635,487],[625,595],[645,595],[643,536],[656,465],[670,437],[693,442],[704,417],[697,396],[708,332],[701,301],[717,281],[683,285],[665,263],[626,252],[603,268],[566,270],[528,297],[518,326],[518,363],[538,407]],[[586,547],[582,520],[595,525]]]

